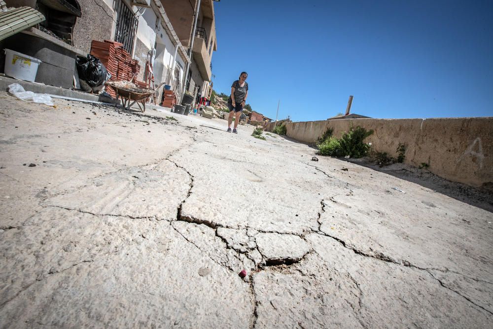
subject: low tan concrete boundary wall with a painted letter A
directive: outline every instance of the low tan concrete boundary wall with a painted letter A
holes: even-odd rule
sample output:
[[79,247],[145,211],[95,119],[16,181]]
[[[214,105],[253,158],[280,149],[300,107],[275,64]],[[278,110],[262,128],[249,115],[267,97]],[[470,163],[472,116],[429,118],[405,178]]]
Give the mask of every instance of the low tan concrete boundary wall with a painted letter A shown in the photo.
[[290,122],[286,130],[288,137],[314,143],[328,128],[341,137],[351,126],[373,129],[365,142],[390,156],[397,155],[399,143],[404,144],[404,163],[416,167],[427,163],[429,171],[450,181],[493,187],[493,117]]

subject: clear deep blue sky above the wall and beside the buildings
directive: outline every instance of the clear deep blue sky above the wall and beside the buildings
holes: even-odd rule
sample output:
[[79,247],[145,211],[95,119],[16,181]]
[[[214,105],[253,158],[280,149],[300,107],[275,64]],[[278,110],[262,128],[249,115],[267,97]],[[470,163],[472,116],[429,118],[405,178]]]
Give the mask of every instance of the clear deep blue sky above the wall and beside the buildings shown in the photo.
[[214,90],[270,118],[493,116],[492,0],[214,2]]

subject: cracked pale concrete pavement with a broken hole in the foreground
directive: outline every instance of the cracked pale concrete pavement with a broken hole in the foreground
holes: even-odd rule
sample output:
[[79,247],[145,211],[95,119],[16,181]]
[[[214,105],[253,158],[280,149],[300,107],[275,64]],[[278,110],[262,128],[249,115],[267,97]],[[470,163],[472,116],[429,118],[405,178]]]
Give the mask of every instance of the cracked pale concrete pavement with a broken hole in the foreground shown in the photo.
[[0,102],[0,328],[491,328],[487,210],[223,120]]

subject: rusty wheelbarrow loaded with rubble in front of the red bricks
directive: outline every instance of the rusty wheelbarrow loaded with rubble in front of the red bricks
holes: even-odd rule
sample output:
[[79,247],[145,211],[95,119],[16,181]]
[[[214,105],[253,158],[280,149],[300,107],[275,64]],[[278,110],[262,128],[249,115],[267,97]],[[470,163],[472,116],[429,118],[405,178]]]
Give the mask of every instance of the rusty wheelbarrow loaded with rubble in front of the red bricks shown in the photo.
[[130,108],[137,103],[142,112],[145,111],[145,100],[151,97],[163,84],[165,84],[165,82],[154,89],[150,89],[138,88],[130,81],[108,81],[105,83],[106,86],[113,88],[116,92],[115,107],[118,104],[118,99],[121,97],[122,105],[125,110],[130,110]]

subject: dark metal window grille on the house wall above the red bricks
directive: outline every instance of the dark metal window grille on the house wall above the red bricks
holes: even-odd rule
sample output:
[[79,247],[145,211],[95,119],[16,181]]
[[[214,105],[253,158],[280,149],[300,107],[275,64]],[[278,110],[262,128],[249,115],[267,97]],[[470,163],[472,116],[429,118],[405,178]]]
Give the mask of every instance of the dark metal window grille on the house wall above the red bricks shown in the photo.
[[137,32],[139,20],[134,12],[123,2],[115,0],[116,32],[115,41],[123,43],[123,48],[132,54],[134,48],[134,37]]

